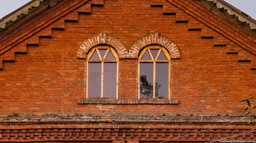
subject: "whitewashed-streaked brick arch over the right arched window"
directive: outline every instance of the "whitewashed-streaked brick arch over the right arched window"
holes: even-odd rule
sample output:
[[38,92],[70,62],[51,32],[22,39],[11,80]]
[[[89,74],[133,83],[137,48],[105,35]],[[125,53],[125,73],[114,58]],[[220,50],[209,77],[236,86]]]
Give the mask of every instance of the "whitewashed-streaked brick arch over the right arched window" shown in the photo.
[[129,50],[129,58],[138,58],[139,51],[150,44],[159,44],[165,47],[168,50],[171,59],[178,59],[181,57],[180,50],[176,44],[167,37],[159,36],[158,33],[152,33],[146,37],[142,37],[132,44]]

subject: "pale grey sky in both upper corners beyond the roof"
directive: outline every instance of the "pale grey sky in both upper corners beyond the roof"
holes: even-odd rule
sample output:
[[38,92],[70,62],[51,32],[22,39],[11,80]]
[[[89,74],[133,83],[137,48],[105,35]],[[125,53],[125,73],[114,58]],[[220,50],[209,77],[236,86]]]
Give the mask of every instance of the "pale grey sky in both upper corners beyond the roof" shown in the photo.
[[[30,0],[0,0],[0,19],[25,5]],[[256,19],[256,0],[225,0],[242,12]]]

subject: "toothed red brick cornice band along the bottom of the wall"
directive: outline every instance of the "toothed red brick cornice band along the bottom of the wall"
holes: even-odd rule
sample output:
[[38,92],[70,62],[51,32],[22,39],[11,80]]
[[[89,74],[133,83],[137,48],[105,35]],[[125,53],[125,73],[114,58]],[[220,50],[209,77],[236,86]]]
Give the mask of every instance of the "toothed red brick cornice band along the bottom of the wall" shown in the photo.
[[[22,124],[13,128],[0,129],[0,142],[86,142],[99,141],[116,143],[115,140],[128,140],[128,143],[139,143],[136,141],[167,141],[176,138],[174,141],[205,143],[209,140],[218,140],[223,137],[236,136],[236,140],[251,140],[255,138],[254,132],[249,135],[237,135],[239,132],[250,131],[252,127],[245,126],[224,126],[222,129],[209,128],[213,126],[179,126],[178,124],[165,124],[164,129],[140,124],[137,126],[125,127],[121,125],[97,125],[94,124]],[[139,127],[138,127],[139,126]],[[191,135],[192,136],[189,136]],[[187,136],[184,136],[187,135]],[[179,138],[178,138],[179,137]],[[117,142],[124,143],[124,142]]]

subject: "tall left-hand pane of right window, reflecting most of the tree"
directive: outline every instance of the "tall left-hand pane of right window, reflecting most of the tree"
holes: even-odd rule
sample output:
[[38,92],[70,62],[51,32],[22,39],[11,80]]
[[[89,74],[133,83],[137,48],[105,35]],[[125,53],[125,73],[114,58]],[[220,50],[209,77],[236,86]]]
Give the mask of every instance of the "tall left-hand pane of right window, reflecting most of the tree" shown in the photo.
[[140,63],[140,98],[153,98],[153,62]]

